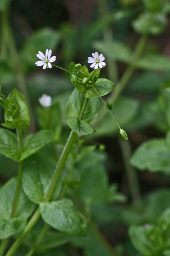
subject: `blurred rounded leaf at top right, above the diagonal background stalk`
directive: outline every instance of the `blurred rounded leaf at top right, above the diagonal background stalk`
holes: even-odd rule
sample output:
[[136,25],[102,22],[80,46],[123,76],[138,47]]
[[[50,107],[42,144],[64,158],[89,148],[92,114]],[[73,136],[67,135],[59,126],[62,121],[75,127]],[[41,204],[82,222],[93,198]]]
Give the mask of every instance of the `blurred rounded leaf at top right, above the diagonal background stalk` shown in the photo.
[[164,31],[167,19],[160,13],[143,12],[132,24],[134,30],[139,34],[159,35]]

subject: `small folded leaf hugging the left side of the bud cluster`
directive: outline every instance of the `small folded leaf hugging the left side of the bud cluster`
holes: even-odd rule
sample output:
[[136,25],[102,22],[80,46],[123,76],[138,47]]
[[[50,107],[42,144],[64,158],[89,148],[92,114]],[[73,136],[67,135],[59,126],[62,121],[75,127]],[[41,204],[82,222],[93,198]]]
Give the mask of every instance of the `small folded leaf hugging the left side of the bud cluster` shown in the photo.
[[77,76],[77,72],[78,72],[78,70],[81,70],[81,68],[78,69],[75,67],[75,65],[76,64],[74,64],[74,63],[70,64],[71,81],[80,93],[85,94],[85,92],[87,91],[87,85],[79,82],[79,80],[78,80],[79,77]]

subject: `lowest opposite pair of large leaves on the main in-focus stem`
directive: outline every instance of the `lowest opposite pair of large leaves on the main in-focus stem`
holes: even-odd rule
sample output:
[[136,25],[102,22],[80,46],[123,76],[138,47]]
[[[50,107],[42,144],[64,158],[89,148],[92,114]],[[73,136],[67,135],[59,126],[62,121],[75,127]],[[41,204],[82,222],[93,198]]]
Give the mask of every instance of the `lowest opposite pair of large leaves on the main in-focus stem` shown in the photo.
[[[61,232],[85,236],[87,232],[85,217],[77,211],[71,200],[45,202],[54,171],[55,166],[44,157],[40,155],[31,157],[24,167],[23,189],[31,201],[40,204],[40,212],[46,223]],[[60,190],[59,181],[52,200],[56,200]]]

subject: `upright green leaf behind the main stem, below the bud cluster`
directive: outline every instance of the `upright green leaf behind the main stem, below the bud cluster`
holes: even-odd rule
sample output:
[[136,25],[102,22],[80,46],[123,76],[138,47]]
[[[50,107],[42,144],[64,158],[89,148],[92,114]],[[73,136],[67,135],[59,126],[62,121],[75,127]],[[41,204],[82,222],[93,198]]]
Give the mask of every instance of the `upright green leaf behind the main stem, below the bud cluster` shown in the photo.
[[[81,110],[85,101],[85,96],[78,92],[75,88],[68,99],[66,112],[68,117],[80,117]],[[86,122],[92,122],[98,113],[99,110],[99,99],[91,98],[88,100],[85,113],[82,117]]]

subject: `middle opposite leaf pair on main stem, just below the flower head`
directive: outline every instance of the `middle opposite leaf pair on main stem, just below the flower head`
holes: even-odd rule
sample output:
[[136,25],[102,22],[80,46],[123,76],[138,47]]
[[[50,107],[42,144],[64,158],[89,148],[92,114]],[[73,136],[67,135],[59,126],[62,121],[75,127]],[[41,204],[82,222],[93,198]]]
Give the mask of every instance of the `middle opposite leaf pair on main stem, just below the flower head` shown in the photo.
[[96,118],[99,110],[99,99],[88,99],[85,113],[82,116],[82,119],[80,119],[84,101],[85,96],[79,93],[78,90],[75,88],[68,99],[66,107],[66,112],[68,116],[66,122],[68,126],[79,136],[91,134],[94,132],[94,129],[91,127],[91,125],[89,125],[89,122],[92,122]]

